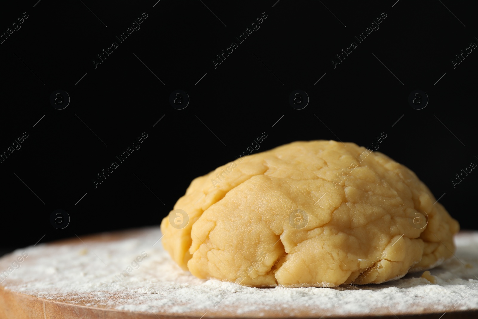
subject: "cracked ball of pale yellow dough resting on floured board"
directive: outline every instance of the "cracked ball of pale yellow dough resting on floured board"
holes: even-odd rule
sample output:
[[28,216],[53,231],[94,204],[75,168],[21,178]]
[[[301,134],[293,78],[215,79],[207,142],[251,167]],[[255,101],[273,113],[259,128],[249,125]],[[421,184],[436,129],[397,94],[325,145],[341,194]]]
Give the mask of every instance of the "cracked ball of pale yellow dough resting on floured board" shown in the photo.
[[194,179],[170,212],[187,224],[164,218],[163,246],[199,278],[245,286],[382,283],[453,255],[459,224],[435,200],[380,152],[294,142]]

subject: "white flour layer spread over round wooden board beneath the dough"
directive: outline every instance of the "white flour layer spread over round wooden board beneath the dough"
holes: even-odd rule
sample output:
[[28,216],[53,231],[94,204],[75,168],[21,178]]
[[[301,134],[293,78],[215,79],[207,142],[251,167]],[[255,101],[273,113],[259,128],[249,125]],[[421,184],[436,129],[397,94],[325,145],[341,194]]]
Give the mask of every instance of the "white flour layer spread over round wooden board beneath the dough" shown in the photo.
[[[83,242],[74,238],[37,244],[3,256],[2,271],[22,252],[28,253],[20,268],[14,269],[1,285],[6,291],[75,305],[198,318],[204,313],[205,317],[320,317],[324,313],[478,311],[478,232],[455,237],[456,257],[430,271],[436,276],[436,284],[422,278],[423,272],[419,272],[396,281],[355,288],[251,288],[198,279],[180,269],[161,242],[156,242],[161,237],[159,227],[80,237]],[[116,276],[141,254],[147,257],[137,263],[137,269],[131,267],[133,270],[119,283]]]

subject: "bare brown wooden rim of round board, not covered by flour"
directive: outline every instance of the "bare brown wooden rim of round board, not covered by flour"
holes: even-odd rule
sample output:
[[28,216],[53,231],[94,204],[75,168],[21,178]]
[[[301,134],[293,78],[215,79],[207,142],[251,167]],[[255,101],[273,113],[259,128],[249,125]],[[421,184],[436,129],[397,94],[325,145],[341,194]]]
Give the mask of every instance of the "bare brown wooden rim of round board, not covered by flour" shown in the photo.
[[[147,234],[147,235],[145,235]],[[478,233],[460,233],[458,236],[460,238],[466,238],[467,236],[474,236],[478,238]],[[150,241],[151,244],[155,240],[159,239],[161,234],[159,228],[149,228],[133,231],[121,231],[114,233],[104,233],[93,235],[85,238],[72,238],[65,241],[53,242],[45,245],[37,245],[36,247],[27,247],[25,248],[28,251],[29,256],[25,258],[22,263],[23,271],[25,272],[25,278],[22,279],[21,276],[9,276],[7,277],[0,285],[0,318],[13,319],[13,318],[65,318],[65,319],[153,319],[153,318],[285,318],[285,317],[297,317],[297,318],[320,318],[324,315],[323,318],[374,318],[381,316],[380,318],[434,318],[438,319],[441,315],[444,315],[446,318],[478,318],[478,307],[453,311],[454,308],[450,307],[446,311],[437,311],[434,309],[433,305],[430,307],[423,307],[423,304],[416,309],[409,309],[408,311],[391,313],[391,310],[388,307],[380,307],[373,309],[369,314],[351,314],[341,315],[338,311],[334,309],[314,309],[311,311],[310,308],[303,307],[294,308],[294,305],[287,310],[268,308],[266,310],[251,310],[243,315],[238,314],[238,309],[236,307],[232,308],[215,308],[209,307],[204,309],[192,309],[191,311],[186,311],[182,313],[172,312],[171,307],[164,307],[156,309],[154,311],[129,311],[129,310],[118,310],[115,307],[115,302],[118,300],[120,303],[120,295],[116,296],[114,293],[108,296],[109,304],[105,305],[98,302],[98,298],[93,297],[94,294],[91,293],[83,294],[82,297],[78,297],[71,294],[65,294],[58,296],[58,294],[43,294],[43,297],[39,296],[35,291],[28,291],[29,286],[34,286],[33,281],[29,281],[28,271],[32,270],[35,264],[44,262],[44,258],[50,258],[52,263],[54,263],[55,258],[59,258],[54,254],[55,251],[60,252],[62,249],[68,250],[78,250],[79,247],[89,247],[91,250],[95,251],[94,247],[98,245],[109,246],[113,243],[120,241],[125,241],[127,239],[139,238],[141,242]],[[99,247],[99,246],[98,246]],[[88,249],[89,249],[88,248]],[[42,252],[42,255],[36,255],[36,252]],[[51,252],[51,256],[46,256],[45,251]],[[97,252],[101,252],[97,248]],[[152,255],[157,255],[155,252],[161,252],[161,258],[168,259],[167,255],[164,254],[161,243],[154,245],[154,250],[150,250]],[[19,251],[7,254],[0,259],[0,269],[6,269],[6,267],[11,264],[12,260],[15,260]],[[478,261],[478,251],[475,252],[475,260]],[[101,253],[100,253],[101,254]],[[469,250],[468,255],[460,255],[459,252],[456,253],[458,258],[465,258],[467,261],[470,259]],[[159,256],[159,255],[158,255]],[[463,257],[464,256],[464,257]],[[93,255],[90,256],[93,258]],[[98,257],[98,256],[97,256]],[[82,257],[79,257],[82,258]],[[159,258],[159,257],[158,257]],[[99,257],[98,257],[99,259]],[[93,260],[93,259],[92,259]],[[157,261],[156,261],[157,262]],[[172,261],[165,260],[164,263],[173,263]],[[95,264],[95,267],[100,267],[100,264]],[[22,268],[19,268],[22,269]],[[17,271],[17,270],[15,270]],[[476,271],[476,270],[475,270]],[[13,273],[12,273],[13,274]],[[139,273],[138,273],[139,274]],[[433,274],[433,272],[432,272]],[[30,274],[31,275],[31,274]],[[140,274],[141,276],[141,274]],[[193,278],[187,273],[184,274],[184,277],[191,277],[190,280],[199,280]],[[138,277],[138,276],[137,276]],[[42,277],[43,278],[43,277]],[[46,279],[42,279],[46,280]],[[55,280],[55,275],[52,275],[48,280]],[[367,285],[370,286],[370,285]],[[7,288],[5,288],[7,287]],[[21,288],[23,287],[23,288]],[[22,291],[22,289],[26,289]],[[271,288],[263,288],[271,289]],[[273,288],[272,288],[273,289]],[[294,288],[288,288],[294,289]],[[316,289],[330,289],[330,288],[316,288]],[[73,297],[72,297],[73,296]],[[146,295],[147,296],[147,295]],[[123,298],[124,299],[124,298]],[[121,299],[124,303],[124,300]],[[169,309],[169,310],[168,310]],[[293,310],[293,311],[292,311]],[[453,316],[453,317],[451,317]]]

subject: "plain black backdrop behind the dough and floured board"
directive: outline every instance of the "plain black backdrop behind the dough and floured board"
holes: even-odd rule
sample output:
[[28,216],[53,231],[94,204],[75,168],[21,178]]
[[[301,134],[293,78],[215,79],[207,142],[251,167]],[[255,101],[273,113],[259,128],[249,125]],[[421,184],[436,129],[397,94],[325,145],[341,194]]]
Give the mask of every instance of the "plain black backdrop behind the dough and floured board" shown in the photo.
[[[416,172],[436,199],[445,194],[440,202],[462,229],[477,229],[478,173],[452,183],[478,163],[478,53],[452,63],[478,43],[476,7],[276,1],[33,0],[3,8],[1,33],[23,12],[28,18],[0,44],[0,152],[23,132],[28,138],[0,164],[2,253],[40,238],[158,225],[194,177],[234,160],[262,132],[259,151],[316,139],[370,147],[385,132],[379,151]],[[143,12],[141,28],[120,43],[115,36]],[[260,29],[239,43],[235,36],[263,12]],[[382,12],[380,28],[359,43],[354,36]],[[95,68],[112,42],[118,48]],[[215,68],[232,42],[238,48]],[[358,47],[334,68],[351,42]],[[57,89],[71,98],[64,110],[50,104]],[[176,89],[190,97],[183,110],[169,103]],[[302,110],[288,102],[295,89],[310,98]],[[408,103],[415,89],[429,97],[422,110]],[[142,132],[141,148],[95,188],[97,174]],[[55,209],[71,217],[65,229],[50,223]]]

